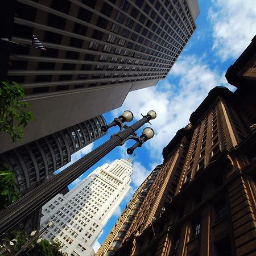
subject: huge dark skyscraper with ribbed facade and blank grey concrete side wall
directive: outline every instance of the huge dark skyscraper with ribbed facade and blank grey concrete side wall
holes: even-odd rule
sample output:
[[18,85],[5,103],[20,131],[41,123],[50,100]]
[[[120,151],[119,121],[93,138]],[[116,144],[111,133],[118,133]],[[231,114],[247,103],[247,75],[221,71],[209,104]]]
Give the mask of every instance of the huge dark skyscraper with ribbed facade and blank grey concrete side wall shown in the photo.
[[[5,7],[10,29],[3,37],[31,46],[34,34],[47,49],[21,47],[9,61],[1,59],[36,117],[23,143],[38,139],[39,130],[44,137],[118,108],[131,90],[154,86],[191,38],[199,14],[197,0],[17,0]],[[0,140],[5,150],[18,144],[3,134]]]

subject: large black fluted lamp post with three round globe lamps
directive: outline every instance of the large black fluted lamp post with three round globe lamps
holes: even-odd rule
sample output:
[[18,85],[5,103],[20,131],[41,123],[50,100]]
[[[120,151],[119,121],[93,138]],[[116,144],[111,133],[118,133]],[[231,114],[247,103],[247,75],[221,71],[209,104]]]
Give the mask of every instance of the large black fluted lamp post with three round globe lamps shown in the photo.
[[[112,151],[117,146],[122,146],[127,139],[130,138],[139,140],[133,146],[141,146],[147,139],[152,138],[152,133],[144,133],[140,138],[136,137],[135,131],[142,127],[145,123],[149,123],[151,119],[156,118],[156,113],[151,110],[147,115],[142,115],[142,118],[131,126],[123,125],[123,122],[130,122],[133,119],[133,113],[125,111],[119,118],[115,118],[112,123],[102,126],[102,131],[107,131],[112,126],[119,126],[118,133],[113,134],[109,141],[103,143],[89,154],[77,160],[64,171],[57,174],[52,179],[39,185],[19,200],[15,201],[7,209],[0,212],[0,238],[4,237],[6,233],[13,230],[18,224],[26,220],[38,208],[42,207],[49,200],[52,199],[61,189],[72,183],[79,176],[84,174],[93,164],[103,158],[106,154]],[[153,135],[154,136],[154,135]],[[129,151],[130,152],[130,151]]]

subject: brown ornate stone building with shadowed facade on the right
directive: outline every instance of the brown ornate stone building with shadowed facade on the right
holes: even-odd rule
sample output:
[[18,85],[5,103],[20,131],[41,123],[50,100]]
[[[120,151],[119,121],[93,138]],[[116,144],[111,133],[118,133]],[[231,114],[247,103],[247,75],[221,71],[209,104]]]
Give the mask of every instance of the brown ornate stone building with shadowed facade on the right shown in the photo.
[[[253,45],[227,75],[254,58]],[[256,254],[256,84],[249,80],[237,73],[236,92],[209,92],[164,148],[162,168],[121,245],[98,256]]]

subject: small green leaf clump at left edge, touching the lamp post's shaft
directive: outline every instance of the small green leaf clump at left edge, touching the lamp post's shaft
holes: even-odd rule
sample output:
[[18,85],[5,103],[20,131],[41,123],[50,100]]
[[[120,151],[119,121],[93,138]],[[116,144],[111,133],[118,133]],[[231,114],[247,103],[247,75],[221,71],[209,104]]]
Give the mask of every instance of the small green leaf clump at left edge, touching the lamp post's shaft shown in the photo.
[[0,167],[0,210],[6,209],[11,203],[19,198],[16,190],[18,185],[15,183],[14,171],[10,171],[6,164]]

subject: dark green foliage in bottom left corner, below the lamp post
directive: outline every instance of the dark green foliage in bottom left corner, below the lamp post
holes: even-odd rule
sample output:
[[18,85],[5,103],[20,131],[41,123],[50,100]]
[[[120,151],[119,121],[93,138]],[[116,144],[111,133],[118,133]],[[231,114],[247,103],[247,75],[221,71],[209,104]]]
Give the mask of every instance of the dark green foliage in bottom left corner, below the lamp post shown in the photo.
[[[9,233],[9,235],[4,238],[0,243],[5,243],[7,245],[9,241],[14,241],[14,246],[7,248],[9,251],[0,252],[0,255],[7,256],[7,255],[14,255],[17,253],[24,245],[30,242],[33,238],[30,237],[28,234],[24,233],[20,230],[14,230],[13,232]],[[49,243],[47,240],[43,239],[40,243],[36,243],[38,238],[36,237],[34,242],[30,246],[27,247],[25,251],[20,253],[20,256],[68,256],[67,253],[63,253],[60,249],[60,243],[53,241]]]

